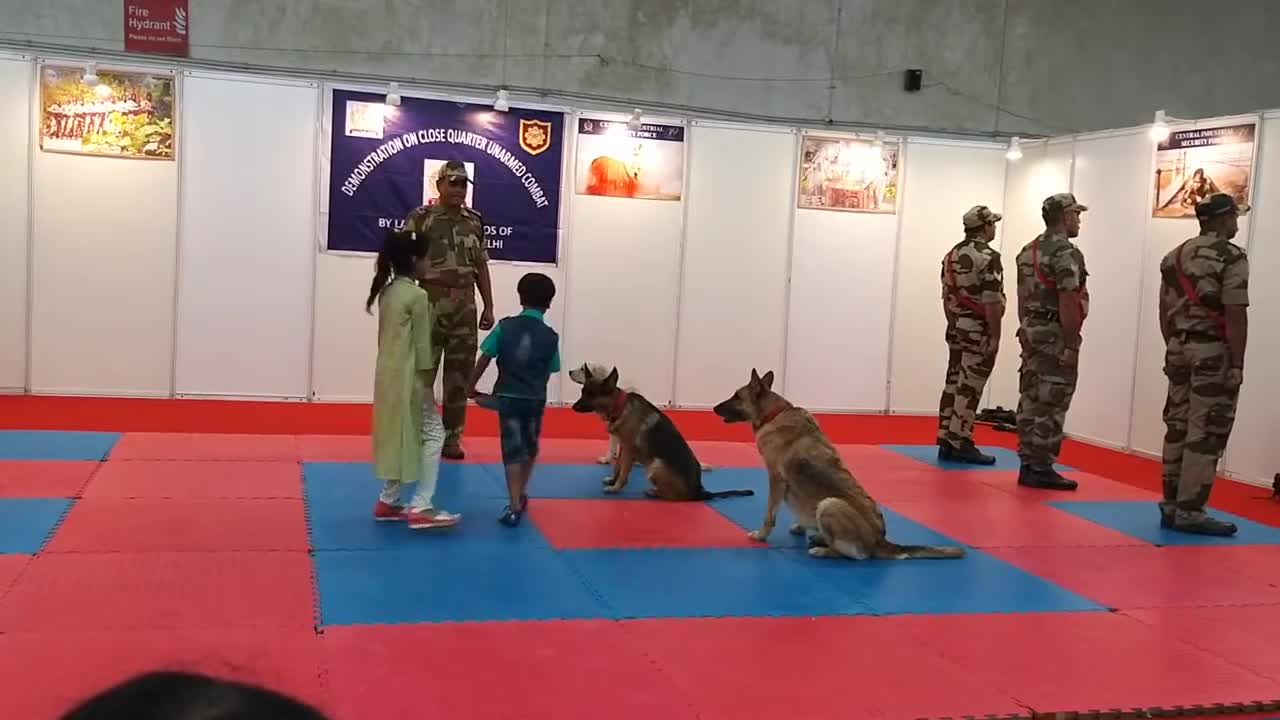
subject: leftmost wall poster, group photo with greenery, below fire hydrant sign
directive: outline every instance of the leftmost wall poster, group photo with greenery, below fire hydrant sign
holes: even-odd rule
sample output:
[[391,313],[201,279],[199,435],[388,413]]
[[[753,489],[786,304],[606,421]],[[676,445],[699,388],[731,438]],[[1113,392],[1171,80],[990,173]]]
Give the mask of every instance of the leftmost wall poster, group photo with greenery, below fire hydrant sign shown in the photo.
[[40,73],[40,149],[45,152],[173,160],[173,78],[46,65]]

